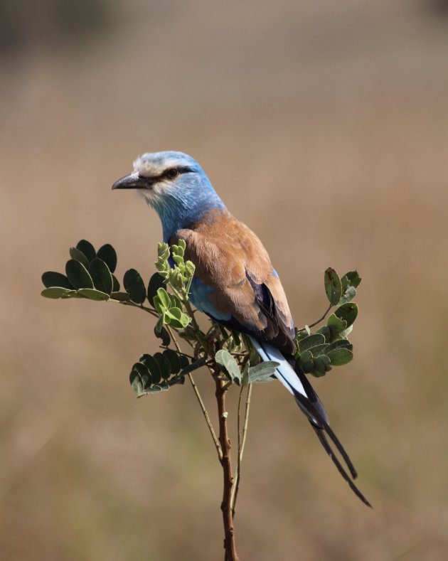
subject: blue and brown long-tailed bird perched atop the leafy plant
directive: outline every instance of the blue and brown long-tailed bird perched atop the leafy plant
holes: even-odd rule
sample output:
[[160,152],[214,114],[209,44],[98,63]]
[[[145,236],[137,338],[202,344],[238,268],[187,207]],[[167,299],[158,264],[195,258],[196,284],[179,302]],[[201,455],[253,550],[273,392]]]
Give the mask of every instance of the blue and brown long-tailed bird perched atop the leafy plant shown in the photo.
[[353,493],[371,507],[353,483],[358,474],[321,400],[294,360],[294,321],[267,250],[226,208],[198,162],[180,151],[147,152],[112,189],[137,190],[159,215],[164,242],[185,240],[184,257],[196,267],[189,294],[193,305],[213,321],[247,334],[263,361],[279,364],[274,375],[294,396]]

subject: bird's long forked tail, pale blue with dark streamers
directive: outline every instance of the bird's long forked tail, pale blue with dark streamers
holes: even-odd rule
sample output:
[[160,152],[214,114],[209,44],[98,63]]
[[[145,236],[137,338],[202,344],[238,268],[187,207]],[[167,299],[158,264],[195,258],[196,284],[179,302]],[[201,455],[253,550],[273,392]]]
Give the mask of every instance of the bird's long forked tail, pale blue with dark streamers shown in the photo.
[[[353,483],[352,479],[356,479],[358,474],[353,466],[351,459],[348,457],[347,452],[343,448],[341,442],[339,442],[338,437],[334,434],[333,430],[329,426],[329,417],[326,415],[324,405],[322,405],[321,400],[319,400],[318,395],[311,387],[309,380],[306,378],[302,369],[297,365],[293,358],[286,358],[277,348],[270,346],[268,343],[263,343],[257,341],[255,338],[251,337],[251,341],[255,346],[257,353],[263,360],[274,360],[279,363],[275,376],[284,385],[289,392],[294,395],[297,405],[299,405],[300,410],[309,420],[311,427],[313,427],[319,442],[325,449],[325,452],[329,454],[331,460],[333,461],[336,469],[341,474],[343,479],[348,483],[353,493],[363,501],[367,506],[371,505],[363,496],[363,493],[359,491],[358,487]],[[331,448],[330,441],[336,447],[336,450],[341,454],[343,461],[345,462],[350,475],[347,473],[344,466],[338,460],[334,450]]]

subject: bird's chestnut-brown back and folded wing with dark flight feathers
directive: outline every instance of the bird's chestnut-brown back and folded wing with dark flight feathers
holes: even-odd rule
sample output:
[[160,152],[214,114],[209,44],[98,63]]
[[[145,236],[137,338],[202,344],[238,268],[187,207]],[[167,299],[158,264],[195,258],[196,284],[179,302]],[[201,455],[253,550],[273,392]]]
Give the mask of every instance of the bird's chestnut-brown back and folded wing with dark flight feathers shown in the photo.
[[195,276],[211,289],[207,298],[213,309],[232,316],[224,324],[294,352],[294,323],[282,283],[252,230],[220,210],[179,230],[171,243],[179,238],[186,241]]

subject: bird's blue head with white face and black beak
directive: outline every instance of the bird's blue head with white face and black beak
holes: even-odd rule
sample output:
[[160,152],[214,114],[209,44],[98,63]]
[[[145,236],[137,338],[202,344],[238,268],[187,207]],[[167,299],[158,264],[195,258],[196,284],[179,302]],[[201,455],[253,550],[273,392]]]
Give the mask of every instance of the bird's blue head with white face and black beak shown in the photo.
[[137,189],[159,215],[164,241],[208,210],[225,208],[198,162],[182,152],[143,154],[112,189]]

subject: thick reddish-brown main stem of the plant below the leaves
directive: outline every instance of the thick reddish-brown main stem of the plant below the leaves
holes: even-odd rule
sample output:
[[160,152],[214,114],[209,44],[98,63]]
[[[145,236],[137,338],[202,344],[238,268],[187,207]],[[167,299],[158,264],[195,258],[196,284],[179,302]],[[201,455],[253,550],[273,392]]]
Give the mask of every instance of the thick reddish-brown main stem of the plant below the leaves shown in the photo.
[[233,474],[232,474],[232,461],[230,458],[230,440],[228,437],[227,429],[227,416],[225,410],[225,388],[223,387],[223,380],[221,380],[219,372],[214,373],[216,383],[216,401],[218,402],[218,417],[219,417],[219,442],[223,450],[223,458],[221,459],[221,466],[223,466],[223,502],[221,503],[221,511],[223,511],[224,523],[224,548],[226,561],[239,561],[238,553],[235,547],[235,530],[233,528],[232,516],[232,488],[233,488]]

